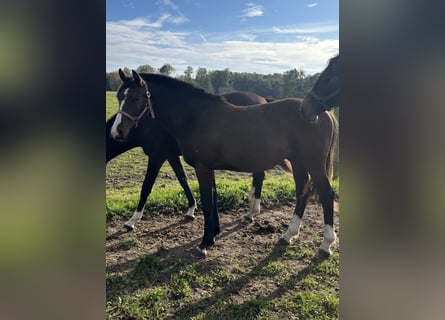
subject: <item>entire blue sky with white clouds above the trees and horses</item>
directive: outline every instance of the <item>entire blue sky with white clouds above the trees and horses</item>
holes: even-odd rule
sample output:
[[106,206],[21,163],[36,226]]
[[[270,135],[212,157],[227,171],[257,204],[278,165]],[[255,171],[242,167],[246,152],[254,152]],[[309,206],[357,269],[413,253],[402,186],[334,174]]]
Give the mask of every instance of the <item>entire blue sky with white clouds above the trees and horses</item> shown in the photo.
[[107,0],[106,71],[314,74],[339,51],[338,15],[339,0]]

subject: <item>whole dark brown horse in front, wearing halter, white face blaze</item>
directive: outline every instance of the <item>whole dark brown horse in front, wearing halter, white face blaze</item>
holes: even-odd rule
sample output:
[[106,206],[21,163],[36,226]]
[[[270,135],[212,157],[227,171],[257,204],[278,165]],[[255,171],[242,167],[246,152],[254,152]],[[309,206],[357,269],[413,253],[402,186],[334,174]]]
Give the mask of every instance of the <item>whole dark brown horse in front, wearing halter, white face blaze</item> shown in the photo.
[[[330,183],[337,122],[328,112],[314,123],[300,114],[301,99],[237,107],[221,96],[159,74],[132,71],[118,91],[119,114],[112,135],[125,139],[148,114],[176,138],[187,163],[195,168],[204,212],[204,236],[198,251],[205,255],[220,233],[214,170],[262,172],[288,159],[296,185],[295,214],[281,241],[298,235],[312,179],[323,206],[324,241],[320,252],[331,254],[335,241],[334,192]],[[120,115],[120,117],[119,117]]]

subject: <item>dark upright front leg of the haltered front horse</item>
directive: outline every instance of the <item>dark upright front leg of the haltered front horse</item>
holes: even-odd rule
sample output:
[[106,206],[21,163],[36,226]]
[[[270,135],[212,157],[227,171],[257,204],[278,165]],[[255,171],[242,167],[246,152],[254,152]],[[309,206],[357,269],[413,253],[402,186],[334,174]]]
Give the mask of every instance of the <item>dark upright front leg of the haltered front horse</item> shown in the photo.
[[207,254],[207,248],[214,244],[216,231],[219,231],[218,214],[215,215],[216,203],[214,200],[215,174],[214,171],[202,165],[195,166],[196,176],[199,183],[199,192],[201,194],[201,205],[204,213],[204,236],[201,244],[197,247],[200,255]]

